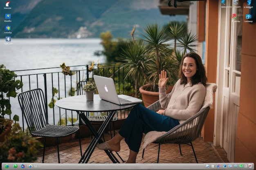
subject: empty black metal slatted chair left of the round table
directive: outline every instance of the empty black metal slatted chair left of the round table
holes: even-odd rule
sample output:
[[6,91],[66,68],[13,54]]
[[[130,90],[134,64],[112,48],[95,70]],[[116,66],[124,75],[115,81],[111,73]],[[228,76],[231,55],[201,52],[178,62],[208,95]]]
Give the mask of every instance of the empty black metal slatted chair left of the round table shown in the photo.
[[[50,125],[47,117],[47,104],[45,103],[43,91],[40,88],[20,93],[18,95],[18,101],[31,135],[33,137],[44,137],[42,162],[44,163],[45,158],[46,137],[55,137],[58,150],[58,163],[60,163],[58,139],[74,134],[79,130],[79,127]],[[79,144],[82,156],[80,137]]]

